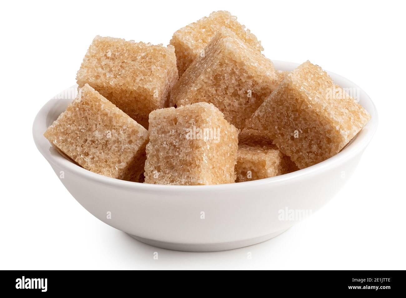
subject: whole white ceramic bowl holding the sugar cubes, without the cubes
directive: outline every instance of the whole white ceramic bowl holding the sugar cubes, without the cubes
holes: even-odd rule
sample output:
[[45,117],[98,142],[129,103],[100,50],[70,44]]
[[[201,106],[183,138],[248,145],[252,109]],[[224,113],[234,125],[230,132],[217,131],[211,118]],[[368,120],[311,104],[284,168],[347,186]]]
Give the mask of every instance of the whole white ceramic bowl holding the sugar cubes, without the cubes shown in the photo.
[[[281,70],[299,65],[274,64]],[[359,88],[339,75],[329,75],[340,86]],[[234,184],[142,184],[83,169],[62,157],[43,137],[74,99],[71,90],[48,101],[37,114],[32,132],[38,150],[63,177],[60,180],[71,195],[95,217],[147,244],[181,251],[222,251],[256,244],[287,230],[298,222],[300,214],[317,211],[351,176],[378,124],[374,104],[358,89],[360,103],[372,119],[339,154],[317,165]],[[299,217],[289,218],[292,212],[298,212]]]

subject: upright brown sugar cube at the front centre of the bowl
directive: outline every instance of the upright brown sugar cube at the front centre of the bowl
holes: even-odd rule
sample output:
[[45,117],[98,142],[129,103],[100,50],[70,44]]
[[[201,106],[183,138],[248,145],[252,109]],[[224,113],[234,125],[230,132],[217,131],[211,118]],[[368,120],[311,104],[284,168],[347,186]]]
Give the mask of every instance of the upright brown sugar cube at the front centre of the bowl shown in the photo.
[[195,103],[149,114],[145,183],[233,183],[238,129],[212,104]]

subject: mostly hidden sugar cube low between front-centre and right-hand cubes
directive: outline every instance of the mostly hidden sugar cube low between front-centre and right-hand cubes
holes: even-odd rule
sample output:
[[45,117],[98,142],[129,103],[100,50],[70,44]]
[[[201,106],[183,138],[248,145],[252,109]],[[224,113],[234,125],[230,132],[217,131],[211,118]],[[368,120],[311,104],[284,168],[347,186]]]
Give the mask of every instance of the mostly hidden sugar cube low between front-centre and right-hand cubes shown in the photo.
[[294,163],[276,145],[238,145],[235,182],[270,178],[296,169]]

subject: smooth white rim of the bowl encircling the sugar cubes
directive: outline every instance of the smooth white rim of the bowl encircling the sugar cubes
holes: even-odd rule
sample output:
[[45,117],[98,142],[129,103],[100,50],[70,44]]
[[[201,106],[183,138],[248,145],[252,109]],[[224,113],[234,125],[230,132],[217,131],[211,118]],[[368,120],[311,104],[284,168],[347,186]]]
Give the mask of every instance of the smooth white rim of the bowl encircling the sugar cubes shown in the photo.
[[[276,69],[280,70],[293,70],[298,65],[300,65],[299,63],[278,60],[272,60],[272,62],[274,63]],[[66,169],[68,172],[80,176],[81,178],[93,180],[94,182],[102,184],[108,184],[112,187],[133,189],[134,191],[200,192],[207,190],[236,191],[238,189],[246,189],[247,187],[259,187],[263,184],[268,184],[269,186],[271,186],[272,184],[275,183],[287,182],[288,180],[293,180],[296,178],[301,178],[306,175],[314,174],[317,171],[326,170],[328,167],[337,166],[340,163],[343,163],[343,161],[351,159],[352,157],[356,156],[359,152],[363,151],[366,148],[366,146],[369,144],[372,137],[374,136],[374,133],[376,132],[378,126],[378,111],[376,110],[376,107],[371,98],[358,85],[354,84],[352,81],[346,79],[345,77],[342,77],[341,75],[337,75],[329,71],[327,71],[327,73],[333,78],[333,80],[339,79],[341,81],[346,81],[347,85],[359,88],[360,99],[361,101],[363,101],[363,107],[367,109],[367,111],[371,115],[371,120],[369,120],[367,125],[363,128],[363,130],[361,131],[362,133],[358,133],[358,135],[356,135],[356,137],[354,137],[354,139],[352,139],[352,141],[350,141],[350,143],[345,148],[343,148],[343,150],[341,150],[333,157],[330,157],[329,159],[326,159],[325,161],[322,161],[310,167],[300,169],[296,172],[275,176],[271,178],[264,178],[259,180],[238,183],[212,184],[212,185],[162,185],[162,184],[148,184],[148,183],[124,181],[103,176],[101,174],[93,173],[89,170],[80,167],[79,165],[72,163],[71,161],[63,157],[61,154],[56,153],[57,151],[54,148],[52,148],[52,145],[43,136],[43,133],[47,129],[46,124],[44,126],[44,119],[49,114],[50,110],[56,105],[56,103],[58,103],[59,99],[57,98],[57,96],[55,96],[53,99],[50,99],[47,103],[45,103],[45,105],[43,105],[43,107],[37,113],[37,116],[35,117],[32,126],[32,135],[38,150],[45,157],[45,159],[47,159],[47,161],[52,165],[58,168]],[[77,85],[73,85],[72,87],[76,86]],[[53,150],[54,152],[52,152],[51,150]]]

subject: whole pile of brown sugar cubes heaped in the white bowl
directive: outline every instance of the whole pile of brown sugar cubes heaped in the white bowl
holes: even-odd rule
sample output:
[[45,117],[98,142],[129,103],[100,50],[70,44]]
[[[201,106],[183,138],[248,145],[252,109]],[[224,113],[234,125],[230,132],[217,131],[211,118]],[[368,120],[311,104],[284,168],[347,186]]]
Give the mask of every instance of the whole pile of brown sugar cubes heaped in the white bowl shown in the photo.
[[320,66],[277,70],[227,11],[168,46],[96,36],[78,96],[44,136],[91,172],[210,185],[271,178],[340,152],[371,119]]

